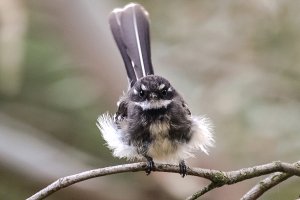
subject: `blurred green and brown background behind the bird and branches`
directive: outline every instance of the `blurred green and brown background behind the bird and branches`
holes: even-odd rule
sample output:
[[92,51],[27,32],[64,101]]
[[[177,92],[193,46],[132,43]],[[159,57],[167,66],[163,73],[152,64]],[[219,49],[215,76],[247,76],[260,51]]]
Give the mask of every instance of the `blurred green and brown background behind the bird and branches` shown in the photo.
[[[0,199],[25,199],[59,177],[127,163],[112,157],[95,122],[116,111],[127,89],[107,16],[128,2],[0,1]],[[300,1],[137,2],[150,13],[156,74],[215,127],[216,147],[190,166],[299,160]],[[239,199],[259,180],[203,199]],[[48,199],[183,199],[206,183],[126,173]],[[299,188],[291,178],[263,199],[296,199]]]

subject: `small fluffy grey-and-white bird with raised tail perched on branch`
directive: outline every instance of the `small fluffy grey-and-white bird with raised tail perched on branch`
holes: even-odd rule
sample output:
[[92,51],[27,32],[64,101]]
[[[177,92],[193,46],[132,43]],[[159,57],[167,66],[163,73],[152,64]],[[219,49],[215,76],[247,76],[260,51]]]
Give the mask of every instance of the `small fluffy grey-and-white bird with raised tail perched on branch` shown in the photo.
[[164,77],[154,74],[151,62],[150,20],[143,6],[130,3],[109,15],[113,38],[123,58],[128,91],[117,111],[100,115],[97,126],[113,156],[145,160],[146,174],[155,163],[179,165],[187,175],[185,160],[198,150],[208,154],[214,146],[211,122],[193,115],[183,97]]

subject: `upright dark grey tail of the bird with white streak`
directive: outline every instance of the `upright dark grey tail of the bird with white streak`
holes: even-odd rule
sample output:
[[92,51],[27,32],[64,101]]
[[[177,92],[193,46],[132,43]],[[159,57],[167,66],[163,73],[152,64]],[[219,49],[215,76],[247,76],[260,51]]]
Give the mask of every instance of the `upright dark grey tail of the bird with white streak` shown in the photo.
[[109,23],[131,86],[138,79],[154,74],[147,11],[139,4],[130,3],[123,9],[115,9]]

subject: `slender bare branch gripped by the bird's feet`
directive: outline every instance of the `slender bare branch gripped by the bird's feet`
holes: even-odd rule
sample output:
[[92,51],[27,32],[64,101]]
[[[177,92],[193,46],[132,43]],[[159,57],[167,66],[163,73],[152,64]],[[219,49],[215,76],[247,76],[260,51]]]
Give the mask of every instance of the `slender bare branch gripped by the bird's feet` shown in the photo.
[[[146,163],[139,162],[139,163],[94,169],[79,174],[66,176],[48,185],[46,188],[42,189],[41,191],[37,192],[33,196],[29,197],[27,200],[44,199],[47,196],[53,194],[54,192],[62,188],[68,187],[72,184],[87,179],[111,175],[111,174],[124,173],[124,172],[144,171],[146,167],[147,167]],[[179,167],[177,165],[156,164],[155,170],[158,172],[179,173]],[[292,175],[300,176],[300,161],[294,164],[277,161],[265,165],[259,165],[259,166],[244,168],[244,169],[230,171],[230,172],[223,172],[219,170],[202,169],[202,168],[187,168],[187,175],[202,177],[212,182],[207,187],[193,194],[191,197],[189,197],[189,199],[196,199],[201,195],[209,192],[210,190],[217,187],[221,187],[225,184],[230,185],[246,179],[251,179],[253,177],[271,174],[274,172],[284,172],[289,174],[290,176]]]

